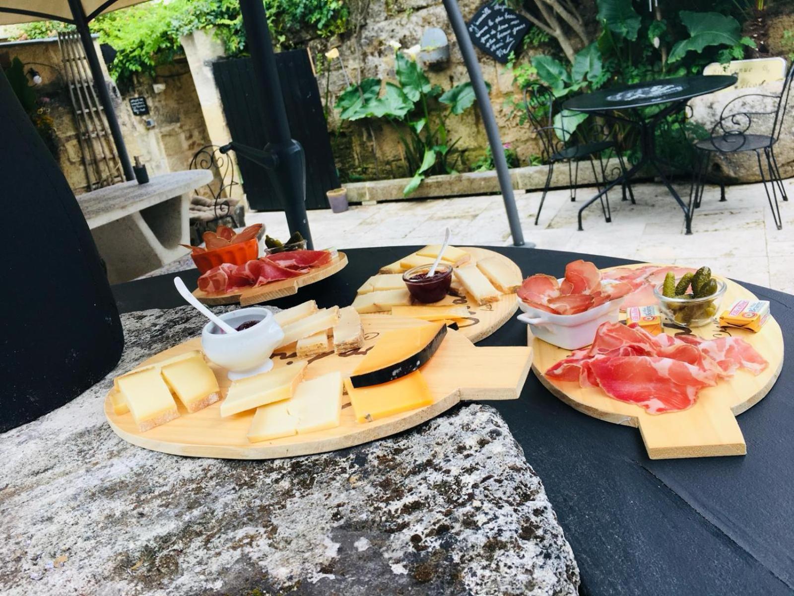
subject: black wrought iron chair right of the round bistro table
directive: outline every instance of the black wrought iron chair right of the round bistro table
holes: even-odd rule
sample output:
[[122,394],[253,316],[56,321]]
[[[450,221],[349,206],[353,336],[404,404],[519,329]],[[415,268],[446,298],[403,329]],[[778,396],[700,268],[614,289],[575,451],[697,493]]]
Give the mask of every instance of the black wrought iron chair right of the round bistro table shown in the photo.
[[[766,199],[769,208],[772,210],[772,217],[778,230],[783,228],[781,219],[781,207],[777,202],[777,192],[781,193],[784,201],[788,201],[781,170],[777,166],[775,157],[775,144],[783,129],[783,119],[788,107],[788,96],[791,93],[792,78],[794,78],[794,68],[789,68],[783,80],[783,87],[780,95],[768,95],[764,93],[747,93],[739,95],[725,104],[723,111],[719,114],[719,120],[711,128],[711,137],[697,141],[698,164],[692,182],[692,192],[690,192],[690,210],[692,203],[694,207],[700,207],[703,199],[703,188],[705,187],[708,174],[708,167],[711,157],[718,154],[743,153],[754,151],[758,162],[758,172],[761,174],[761,182],[764,184]],[[764,98],[770,104],[768,111],[730,111],[735,109],[734,105],[741,99]],[[771,101],[776,100],[776,101]],[[773,108],[771,106],[774,106]],[[764,175],[764,167],[761,162],[761,152],[766,159],[766,170],[768,176]],[[771,188],[772,192],[769,192]],[[724,187],[723,195],[720,200],[725,200]]]

